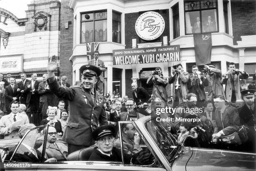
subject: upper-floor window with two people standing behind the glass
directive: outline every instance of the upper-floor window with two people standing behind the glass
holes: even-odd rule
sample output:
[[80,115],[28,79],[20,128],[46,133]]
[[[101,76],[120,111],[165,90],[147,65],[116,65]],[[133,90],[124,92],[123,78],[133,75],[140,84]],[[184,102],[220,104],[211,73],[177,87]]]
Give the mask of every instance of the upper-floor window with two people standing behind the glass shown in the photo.
[[216,0],[184,1],[186,34],[217,32]]

